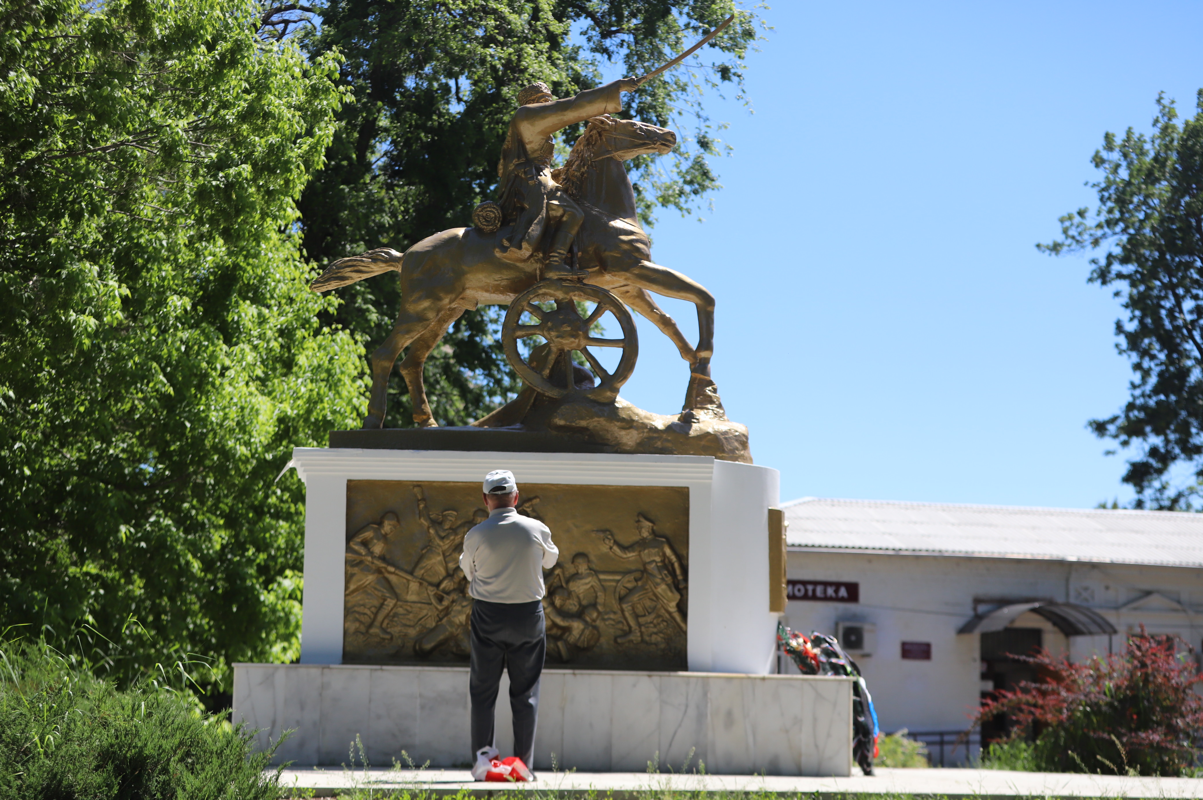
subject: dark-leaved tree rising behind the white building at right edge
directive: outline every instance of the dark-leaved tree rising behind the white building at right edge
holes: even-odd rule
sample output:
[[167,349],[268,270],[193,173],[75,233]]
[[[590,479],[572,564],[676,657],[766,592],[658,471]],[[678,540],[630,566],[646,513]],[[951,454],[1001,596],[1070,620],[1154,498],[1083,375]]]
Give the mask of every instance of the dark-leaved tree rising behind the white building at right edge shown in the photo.
[[[1138,448],[1124,475],[1137,508],[1190,508],[1203,486],[1203,89],[1198,113],[1177,120],[1173,101],[1158,96],[1150,136],[1108,132],[1094,156],[1098,208],[1062,217],[1063,238],[1037,245],[1103,250],[1090,280],[1116,286],[1124,301],[1115,333],[1132,362],[1131,397],[1090,428]],[[1175,464],[1193,469],[1192,484],[1175,485]]]

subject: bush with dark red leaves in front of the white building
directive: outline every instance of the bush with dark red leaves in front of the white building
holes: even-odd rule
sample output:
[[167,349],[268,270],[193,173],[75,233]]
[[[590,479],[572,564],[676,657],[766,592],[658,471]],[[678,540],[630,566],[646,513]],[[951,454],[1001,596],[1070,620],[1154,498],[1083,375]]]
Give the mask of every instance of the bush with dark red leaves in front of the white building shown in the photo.
[[997,692],[973,724],[1006,713],[1008,741],[1037,731],[1042,771],[1181,775],[1203,743],[1203,698],[1193,691],[1203,676],[1191,654],[1175,654],[1179,642],[1140,626],[1120,656],[1080,664],[1048,652],[1021,657],[1044,681]]

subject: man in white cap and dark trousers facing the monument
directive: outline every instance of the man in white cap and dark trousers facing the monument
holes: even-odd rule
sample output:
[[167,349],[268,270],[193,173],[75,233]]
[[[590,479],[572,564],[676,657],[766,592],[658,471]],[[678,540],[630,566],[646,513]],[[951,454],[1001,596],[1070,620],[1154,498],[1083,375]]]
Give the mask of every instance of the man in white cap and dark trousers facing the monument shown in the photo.
[[[514,711],[514,754],[529,768],[534,759],[534,729],[539,712],[539,676],[547,650],[543,616],[543,570],[556,565],[559,550],[544,523],[522,516],[515,506],[518,487],[514,473],[494,469],[485,475],[488,518],[463,539],[460,567],[468,576],[472,606],[473,776],[485,778],[484,762],[497,753],[493,709],[502,669],[510,676]],[[486,765],[487,769],[487,765]]]

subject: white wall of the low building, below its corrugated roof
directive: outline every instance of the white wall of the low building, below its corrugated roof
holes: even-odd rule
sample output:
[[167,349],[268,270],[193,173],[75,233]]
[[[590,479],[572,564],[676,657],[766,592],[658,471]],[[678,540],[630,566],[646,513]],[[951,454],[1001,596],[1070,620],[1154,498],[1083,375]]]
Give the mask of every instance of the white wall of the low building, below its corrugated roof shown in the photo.
[[[1045,598],[1095,609],[1119,629],[1114,641],[1066,638],[1033,614],[1013,623],[1047,629],[1045,646],[1074,660],[1109,646],[1119,652],[1142,622],[1196,650],[1203,638],[1203,569],[792,549],[788,576],[860,585],[859,603],[789,600],[786,624],[807,634],[835,634],[837,622],[876,626],[873,652],[855,658],[885,731],[967,727],[983,688],[980,642],[956,629],[973,616],[974,599]],[[903,660],[903,641],[929,642],[931,660]]]

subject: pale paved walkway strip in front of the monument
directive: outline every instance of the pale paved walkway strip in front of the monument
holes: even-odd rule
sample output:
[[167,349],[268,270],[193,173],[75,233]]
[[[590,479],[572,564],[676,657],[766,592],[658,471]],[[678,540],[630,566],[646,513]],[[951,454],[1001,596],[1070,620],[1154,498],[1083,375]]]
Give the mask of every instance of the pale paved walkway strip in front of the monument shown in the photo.
[[748,792],[771,794],[924,794],[946,798],[1203,798],[1203,778],[1130,778],[1114,775],[1006,772],[1002,770],[891,770],[873,777],[771,777],[758,775],[647,775],[642,772],[539,772],[534,783],[473,783],[467,770],[289,769],[282,786],[316,789],[328,796],[338,789],[427,789],[455,794],[475,789],[532,789],[561,795],[598,793],[626,798],[640,790]]

